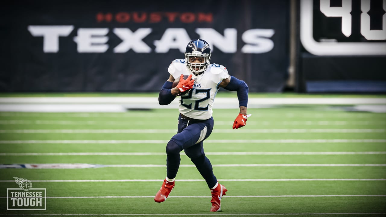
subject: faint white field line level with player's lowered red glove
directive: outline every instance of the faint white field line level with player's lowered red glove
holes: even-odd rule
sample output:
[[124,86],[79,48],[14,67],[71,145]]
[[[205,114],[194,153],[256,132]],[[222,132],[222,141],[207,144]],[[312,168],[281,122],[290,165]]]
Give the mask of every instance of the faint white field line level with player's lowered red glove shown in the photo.
[[[1,114],[1,113],[0,113]],[[20,124],[20,125],[145,125],[143,121],[94,121],[94,120],[0,120],[0,124]],[[233,121],[215,120],[215,125],[232,125]],[[386,121],[345,121],[345,120],[322,120],[322,121],[254,121],[249,120],[248,125],[386,125]],[[243,129],[244,130],[244,129]]]

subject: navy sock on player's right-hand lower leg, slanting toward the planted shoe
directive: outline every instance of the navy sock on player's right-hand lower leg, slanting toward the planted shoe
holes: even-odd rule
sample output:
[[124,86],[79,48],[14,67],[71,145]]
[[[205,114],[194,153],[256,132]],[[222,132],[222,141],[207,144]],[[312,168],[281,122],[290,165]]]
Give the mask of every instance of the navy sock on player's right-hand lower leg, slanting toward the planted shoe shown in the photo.
[[200,157],[195,159],[190,159],[195,165],[197,170],[200,172],[201,176],[205,179],[209,188],[213,188],[213,186],[217,183],[217,178],[213,174],[212,164],[205,154],[200,155]]

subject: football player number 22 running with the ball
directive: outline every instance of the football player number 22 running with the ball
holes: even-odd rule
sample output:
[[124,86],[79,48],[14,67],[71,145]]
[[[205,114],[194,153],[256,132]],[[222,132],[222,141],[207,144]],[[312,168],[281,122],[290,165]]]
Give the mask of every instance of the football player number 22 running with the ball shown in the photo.
[[[212,193],[211,212],[219,211],[221,198],[227,192],[225,186],[218,183],[213,175],[212,164],[205,156],[203,141],[213,129],[212,105],[220,87],[237,91],[240,112],[236,117],[233,129],[245,126],[247,122],[248,86],[234,76],[229,76],[227,69],[219,64],[211,64],[209,44],[202,39],[188,43],[185,59],[174,60],[168,71],[169,79],[159,93],[160,105],[168,105],[179,96],[178,131],[166,145],[167,176],[154,200],[164,202],[174,188],[181,161],[179,153],[184,150],[186,156],[196,165]],[[184,76],[188,76],[184,79]],[[179,80],[173,87],[173,82]],[[248,115],[249,117],[249,115]]]

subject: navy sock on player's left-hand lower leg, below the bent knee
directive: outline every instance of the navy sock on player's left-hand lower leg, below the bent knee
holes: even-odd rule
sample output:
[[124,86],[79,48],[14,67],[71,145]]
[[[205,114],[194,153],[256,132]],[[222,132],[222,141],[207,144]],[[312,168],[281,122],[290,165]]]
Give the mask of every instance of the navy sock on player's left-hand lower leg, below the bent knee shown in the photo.
[[176,178],[179,163],[181,162],[179,157],[181,151],[182,148],[176,142],[170,140],[166,145],[166,175],[169,179]]

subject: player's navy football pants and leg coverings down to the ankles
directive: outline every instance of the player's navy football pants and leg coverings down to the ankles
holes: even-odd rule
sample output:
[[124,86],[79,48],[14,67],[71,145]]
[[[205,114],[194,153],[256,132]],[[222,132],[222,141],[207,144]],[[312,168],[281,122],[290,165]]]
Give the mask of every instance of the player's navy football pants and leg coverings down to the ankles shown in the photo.
[[213,130],[213,117],[208,120],[194,122],[178,117],[178,131],[166,145],[166,171],[168,178],[175,178],[181,158],[179,153],[184,150],[186,156],[196,165],[197,170],[208,184],[209,188],[216,185],[212,164],[205,156],[202,141],[208,138]]

